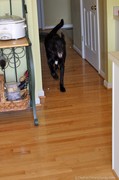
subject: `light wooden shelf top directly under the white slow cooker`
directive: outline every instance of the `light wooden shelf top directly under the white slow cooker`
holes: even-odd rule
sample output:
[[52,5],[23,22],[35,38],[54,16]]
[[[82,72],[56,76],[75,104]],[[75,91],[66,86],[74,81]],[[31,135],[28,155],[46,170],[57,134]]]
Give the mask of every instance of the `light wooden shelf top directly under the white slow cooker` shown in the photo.
[[12,47],[23,47],[23,46],[29,46],[28,39],[21,38],[17,40],[4,40],[0,41],[0,49],[3,48],[12,48]]

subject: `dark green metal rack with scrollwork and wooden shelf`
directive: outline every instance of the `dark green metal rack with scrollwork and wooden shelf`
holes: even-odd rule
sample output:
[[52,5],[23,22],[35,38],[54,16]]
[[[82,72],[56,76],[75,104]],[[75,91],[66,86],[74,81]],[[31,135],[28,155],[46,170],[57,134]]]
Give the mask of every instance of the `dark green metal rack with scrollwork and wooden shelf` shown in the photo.
[[[12,15],[12,0],[9,0],[10,5],[10,15]],[[26,19],[27,6],[25,4],[25,0],[22,0],[22,10],[23,17]],[[27,19],[26,19],[27,24]],[[30,107],[33,110],[34,117],[34,125],[37,126],[38,118],[36,114],[36,105],[35,105],[35,76],[34,76],[34,64],[33,64],[33,55],[32,55],[32,44],[28,35],[28,28],[26,28],[26,37],[18,39],[18,40],[8,40],[8,41],[0,41],[0,56],[5,57],[7,59],[6,66],[3,70],[4,80],[6,81],[6,69],[7,67],[11,67],[15,72],[15,79],[18,82],[17,77],[17,68],[20,66],[21,59],[26,56],[27,62],[27,70],[29,74],[28,84],[29,84],[29,95],[30,95]],[[6,53],[6,50],[9,53]],[[18,51],[17,51],[18,50]],[[11,58],[12,57],[12,58]]]

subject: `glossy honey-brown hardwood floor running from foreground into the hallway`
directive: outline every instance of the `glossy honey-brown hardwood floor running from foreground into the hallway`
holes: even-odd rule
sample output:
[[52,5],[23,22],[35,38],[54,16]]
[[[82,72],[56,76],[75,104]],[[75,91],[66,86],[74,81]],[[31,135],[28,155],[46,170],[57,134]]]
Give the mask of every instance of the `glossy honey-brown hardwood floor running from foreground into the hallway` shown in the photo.
[[111,90],[67,40],[66,93],[52,79],[41,44],[46,94],[32,112],[0,114],[0,180],[112,180]]

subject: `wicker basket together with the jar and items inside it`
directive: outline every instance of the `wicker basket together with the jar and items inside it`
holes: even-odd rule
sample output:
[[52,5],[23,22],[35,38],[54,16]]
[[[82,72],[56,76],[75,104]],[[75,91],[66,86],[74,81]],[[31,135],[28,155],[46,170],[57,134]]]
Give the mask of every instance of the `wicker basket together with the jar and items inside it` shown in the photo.
[[[21,79],[24,76],[24,81]],[[27,90],[28,71],[24,73],[20,82],[4,83],[4,76],[0,74],[0,112],[24,110],[29,107],[30,97]],[[25,86],[19,86],[25,82]]]

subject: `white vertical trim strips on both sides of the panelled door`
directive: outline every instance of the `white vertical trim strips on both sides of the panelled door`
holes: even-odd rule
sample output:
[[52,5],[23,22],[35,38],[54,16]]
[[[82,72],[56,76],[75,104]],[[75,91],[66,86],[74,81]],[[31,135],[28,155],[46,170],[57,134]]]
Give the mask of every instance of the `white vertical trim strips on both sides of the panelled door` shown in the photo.
[[[98,73],[100,73],[100,26],[99,26],[99,0],[96,0],[97,6],[97,40],[98,40]],[[81,39],[82,39],[82,58],[85,59],[85,46],[84,46],[84,14],[83,14],[83,0],[80,0],[81,12]]]

